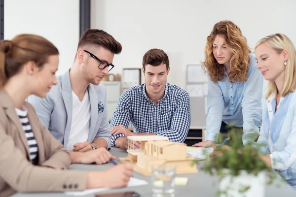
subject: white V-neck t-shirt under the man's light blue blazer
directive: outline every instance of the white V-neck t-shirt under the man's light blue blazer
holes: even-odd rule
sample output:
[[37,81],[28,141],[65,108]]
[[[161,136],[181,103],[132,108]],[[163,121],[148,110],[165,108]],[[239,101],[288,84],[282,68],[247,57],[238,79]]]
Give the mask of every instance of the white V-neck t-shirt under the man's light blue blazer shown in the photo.
[[68,151],[74,149],[74,144],[87,141],[90,129],[90,100],[88,90],[85,92],[81,102],[73,91],[72,98],[72,125],[66,148]]

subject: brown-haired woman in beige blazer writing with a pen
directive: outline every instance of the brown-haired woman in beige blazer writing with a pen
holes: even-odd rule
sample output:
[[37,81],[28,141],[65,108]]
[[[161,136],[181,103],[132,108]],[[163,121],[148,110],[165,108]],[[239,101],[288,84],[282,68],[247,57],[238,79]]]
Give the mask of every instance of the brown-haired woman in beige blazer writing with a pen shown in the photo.
[[29,95],[45,97],[57,84],[58,54],[51,42],[33,34],[0,41],[0,197],[124,187],[132,176],[133,167],[122,164],[101,172],[67,170],[69,152],[25,102]]

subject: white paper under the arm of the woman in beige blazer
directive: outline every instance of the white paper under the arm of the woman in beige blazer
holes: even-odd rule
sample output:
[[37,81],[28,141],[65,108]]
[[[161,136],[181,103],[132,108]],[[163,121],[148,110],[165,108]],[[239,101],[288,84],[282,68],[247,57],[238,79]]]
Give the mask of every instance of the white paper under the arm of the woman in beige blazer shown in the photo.
[[[134,187],[134,186],[141,186],[141,185],[148,185],[148,182],[142,179],[131,177],[127,187]],[[71,195],[71,196],[84,196],[84,195],[103,192],[107,190],[111,190],[111,189],[110,188],[87,189],[82,192],[65,192],[65,194]]]

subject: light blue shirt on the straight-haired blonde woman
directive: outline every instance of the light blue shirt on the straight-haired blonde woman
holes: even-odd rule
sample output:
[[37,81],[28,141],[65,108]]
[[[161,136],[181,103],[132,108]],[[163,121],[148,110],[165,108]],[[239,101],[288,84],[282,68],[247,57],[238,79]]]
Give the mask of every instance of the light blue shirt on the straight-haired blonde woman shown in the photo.
[[275,95],[262,99],[262,128],[257,144],[263,144],[261,152],[270,154],[272,168],[296,190],[296,92],[281,98],[276,112],[275,104]]

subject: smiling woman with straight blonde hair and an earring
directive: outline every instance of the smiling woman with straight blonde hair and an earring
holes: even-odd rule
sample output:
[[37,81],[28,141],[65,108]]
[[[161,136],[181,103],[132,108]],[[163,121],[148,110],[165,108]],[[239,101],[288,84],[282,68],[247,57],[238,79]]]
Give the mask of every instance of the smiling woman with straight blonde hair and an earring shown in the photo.
[[296,190],[296,50],[284,34],[260,39],[257,68],[269,81],[262,98],[261,158]]

